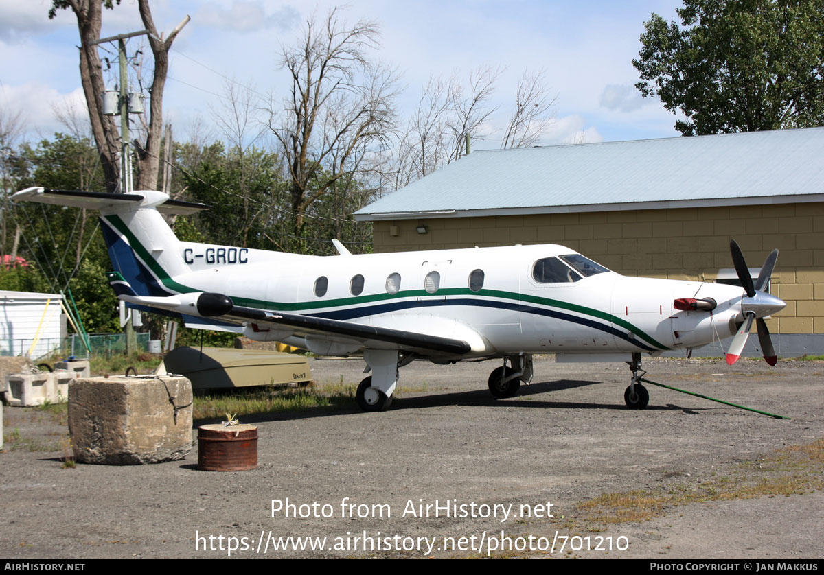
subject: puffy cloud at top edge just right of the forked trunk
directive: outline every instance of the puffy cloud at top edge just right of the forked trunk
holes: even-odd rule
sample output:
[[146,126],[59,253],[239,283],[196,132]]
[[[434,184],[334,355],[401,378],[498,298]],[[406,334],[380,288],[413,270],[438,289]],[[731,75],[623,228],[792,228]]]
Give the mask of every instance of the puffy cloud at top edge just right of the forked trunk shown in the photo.
[[250,32],[277,28],[289,30],[300,20],[300,13],[291,6],[276,8],[267,15],[260,0],[235,0],[228,9],[213,2],[202,5],[197,20],[203,26]]

